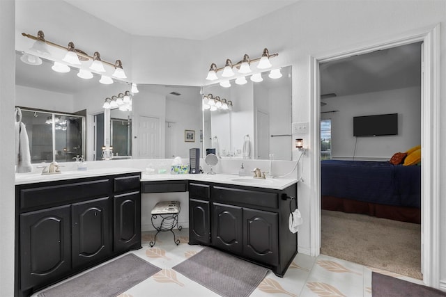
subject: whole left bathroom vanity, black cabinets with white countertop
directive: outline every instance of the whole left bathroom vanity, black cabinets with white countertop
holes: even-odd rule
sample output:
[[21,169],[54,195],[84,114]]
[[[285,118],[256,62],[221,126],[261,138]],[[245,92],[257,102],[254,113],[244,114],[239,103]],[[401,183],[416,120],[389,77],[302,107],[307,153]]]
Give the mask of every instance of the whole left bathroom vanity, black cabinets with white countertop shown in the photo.
[[16,296],[141,248],[139,170],[64,173],[16,181]]

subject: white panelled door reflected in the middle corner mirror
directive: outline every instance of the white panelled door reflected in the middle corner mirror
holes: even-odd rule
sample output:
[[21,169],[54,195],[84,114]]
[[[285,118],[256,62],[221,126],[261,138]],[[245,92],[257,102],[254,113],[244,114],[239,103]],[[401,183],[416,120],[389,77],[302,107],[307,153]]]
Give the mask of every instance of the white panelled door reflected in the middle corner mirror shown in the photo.
[[139,159],[160,158],[160,119],[139,115]]

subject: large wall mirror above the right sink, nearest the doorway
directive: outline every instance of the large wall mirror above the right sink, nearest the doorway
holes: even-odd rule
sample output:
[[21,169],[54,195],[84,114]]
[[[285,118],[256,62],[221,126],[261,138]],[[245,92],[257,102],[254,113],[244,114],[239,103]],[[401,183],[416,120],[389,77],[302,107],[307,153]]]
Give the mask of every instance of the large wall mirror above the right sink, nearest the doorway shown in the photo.
[[[261,81],[247,79],[231,87],[220,83],[203,87],[203,149],[215,150],[222,159],[291,160],[291,66],[280,68],[282,77],[272,79],[270,71]],[[231,102],[221,109],[210,97]],[[217,100],[218,101],[218,100]],[[219,103],[220,104],[220,103]]]

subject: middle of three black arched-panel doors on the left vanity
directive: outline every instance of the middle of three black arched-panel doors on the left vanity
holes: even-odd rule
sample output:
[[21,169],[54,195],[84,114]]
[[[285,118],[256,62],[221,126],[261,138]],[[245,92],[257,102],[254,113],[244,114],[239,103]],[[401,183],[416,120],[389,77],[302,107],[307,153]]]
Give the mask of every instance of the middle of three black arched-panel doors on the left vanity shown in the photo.
[[79,268],[112,252],[109,198],[72,204],[72,266]]

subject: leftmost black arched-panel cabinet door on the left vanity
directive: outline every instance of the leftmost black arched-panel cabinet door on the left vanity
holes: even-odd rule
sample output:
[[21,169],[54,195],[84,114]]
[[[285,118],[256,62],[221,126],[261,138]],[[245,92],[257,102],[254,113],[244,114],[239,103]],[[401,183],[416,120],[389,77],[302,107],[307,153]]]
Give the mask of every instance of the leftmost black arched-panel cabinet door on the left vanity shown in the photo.
[[70,206],[20,214],[20,289],[71,271]]

